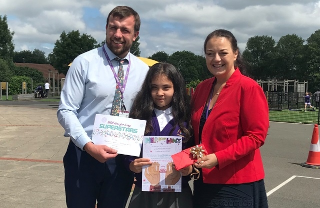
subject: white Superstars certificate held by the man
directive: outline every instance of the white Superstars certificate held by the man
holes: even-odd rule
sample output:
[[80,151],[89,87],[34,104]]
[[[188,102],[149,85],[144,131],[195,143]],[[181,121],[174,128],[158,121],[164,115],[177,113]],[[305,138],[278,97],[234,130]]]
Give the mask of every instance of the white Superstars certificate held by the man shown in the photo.
[[92,142],[115,149],[118,154],[138,157],[145,123],[144,120],[96,114]]

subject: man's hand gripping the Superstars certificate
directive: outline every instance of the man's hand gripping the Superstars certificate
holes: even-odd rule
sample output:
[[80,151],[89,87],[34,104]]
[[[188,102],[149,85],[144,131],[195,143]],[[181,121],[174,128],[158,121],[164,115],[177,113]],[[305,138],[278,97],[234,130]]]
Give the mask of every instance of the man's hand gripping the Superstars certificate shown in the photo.
[[104,163],[108,159],[115,158],[118,155],[116,150],[105,145],[95,145],[92,142],[86,143],[83,150],[100,163]]

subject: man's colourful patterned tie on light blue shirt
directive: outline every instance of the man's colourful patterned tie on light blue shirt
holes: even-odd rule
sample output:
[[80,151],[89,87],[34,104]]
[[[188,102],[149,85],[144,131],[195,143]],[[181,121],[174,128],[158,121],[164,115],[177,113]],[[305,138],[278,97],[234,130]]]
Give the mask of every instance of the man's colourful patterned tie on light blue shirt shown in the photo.
[[[119,71],[118,71],[118,79],[121,84],[123,85],[123,62],[124,60],[119,59],[118,57],[114,58],[114,60],[119,62]],[[111,108],[111,116],[119,116],[120,112],[120,101],[121,101],[121,92],[119,89],[119,86],[116,83],[115,87],[115,92],[114,92],[114,98],[113,98],[113,103],[112,103],[112,108]]]

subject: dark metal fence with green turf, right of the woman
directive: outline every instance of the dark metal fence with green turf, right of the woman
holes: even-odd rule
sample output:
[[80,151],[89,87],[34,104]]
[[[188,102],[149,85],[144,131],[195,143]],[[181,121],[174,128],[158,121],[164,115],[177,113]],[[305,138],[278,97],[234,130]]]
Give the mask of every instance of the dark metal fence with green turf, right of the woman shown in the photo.
[[269,120],[290,123],[319,124],[319,99],[311,96],[311,106],[304,103],[303,92],[265,92],[269,105]]

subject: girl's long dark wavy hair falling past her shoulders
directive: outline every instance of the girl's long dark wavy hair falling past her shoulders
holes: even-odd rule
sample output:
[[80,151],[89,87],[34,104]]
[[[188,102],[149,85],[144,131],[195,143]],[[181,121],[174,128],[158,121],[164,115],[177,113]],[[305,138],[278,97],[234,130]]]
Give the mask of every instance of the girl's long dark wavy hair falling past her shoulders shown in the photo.
[[[186,94],[184,80],[180,72],[169,63],[156,63],[150,67],[145,79],[142,83],[141,89],[137,92],[129,113],[130,118],[146,120],[145,134],[153,131],[152,127],[152,111],[153,102],[151,97],[151,81],[153,78],[163,75],[173,84],[173,96],[171,101],[172,114],[174,118],[173,129],[178,125],[181,133],[184,136],[183,142],[186,142],[192,135],[192,128],[190,125],[191,110],[190,98]],[[187,123],[187,127],[183,123]]]

